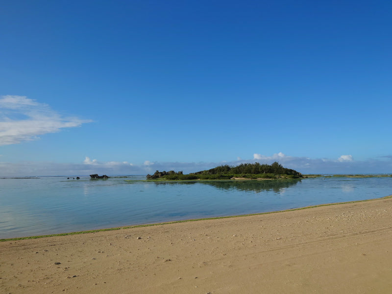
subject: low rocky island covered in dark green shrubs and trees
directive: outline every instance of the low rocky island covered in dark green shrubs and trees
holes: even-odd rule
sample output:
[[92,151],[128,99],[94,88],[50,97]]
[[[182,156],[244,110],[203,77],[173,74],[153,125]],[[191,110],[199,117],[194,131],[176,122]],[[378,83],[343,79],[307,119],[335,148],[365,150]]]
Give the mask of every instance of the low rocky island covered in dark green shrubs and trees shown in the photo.
[[182,172],[159,172],[147,174],[147,179],[161,180],[228,180],[228,179],[299,179],[303,178],[300,172],[286,169],[278,162],[271,165],[256,163],[243,163],[239,166],[221,165],[219,167],[183,174]]

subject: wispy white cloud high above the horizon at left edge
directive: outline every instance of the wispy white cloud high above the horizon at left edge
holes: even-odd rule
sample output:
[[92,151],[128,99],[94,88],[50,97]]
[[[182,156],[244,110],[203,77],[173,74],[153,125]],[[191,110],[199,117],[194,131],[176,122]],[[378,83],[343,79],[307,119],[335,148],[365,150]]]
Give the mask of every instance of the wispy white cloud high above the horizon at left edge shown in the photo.
[[37,140],[39,135],[92,122],[76,117],[62,117],[48,104],[25,96],[2,96],[0,109],[0,146]]

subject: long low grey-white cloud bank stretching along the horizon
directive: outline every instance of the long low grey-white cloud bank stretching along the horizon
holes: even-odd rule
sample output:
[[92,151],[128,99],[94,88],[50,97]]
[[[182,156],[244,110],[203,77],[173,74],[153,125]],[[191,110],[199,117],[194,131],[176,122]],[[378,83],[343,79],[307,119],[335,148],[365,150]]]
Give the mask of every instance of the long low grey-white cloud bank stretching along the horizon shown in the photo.
[[242,163],[260,162],[271,164],[278,161],[285,168],[298,172],[334,174],[334,173],[392,173],[392,156],[382,156],[381,159],[368,159],[366,161],[355,161],[351,155],[342,155],[337,159],[287,156],[279,152],[270,156],[253,154],[252,159],[244,160],[237,158],[231,162],[151,162],[144,161],[142,164],[133,164],[127,161],[101,162],[86,156],[77,164],[55,163],[55,162],[19,162],[7,163],[0,161],[0,176],[39,176],[39,175],[89,175],[93,173],[107,175],[131,175],[153,173],[159,171],[184,173],[208,170],[220,165],[236,166]]

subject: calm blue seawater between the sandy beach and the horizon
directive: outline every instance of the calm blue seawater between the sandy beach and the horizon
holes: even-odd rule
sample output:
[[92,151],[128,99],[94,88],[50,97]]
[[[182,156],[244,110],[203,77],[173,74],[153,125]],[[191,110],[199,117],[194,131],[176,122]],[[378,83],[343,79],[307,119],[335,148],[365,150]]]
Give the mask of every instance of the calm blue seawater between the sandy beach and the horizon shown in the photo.
[[392,194],[392,177],[147,182],[145,176],[0,179],[0,239],[241,215]]

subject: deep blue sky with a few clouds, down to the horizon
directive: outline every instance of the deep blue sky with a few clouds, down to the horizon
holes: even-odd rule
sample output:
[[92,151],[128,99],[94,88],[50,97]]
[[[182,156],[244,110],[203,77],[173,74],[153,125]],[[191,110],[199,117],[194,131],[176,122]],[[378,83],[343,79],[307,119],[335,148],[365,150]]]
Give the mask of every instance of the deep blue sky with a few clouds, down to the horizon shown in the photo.
[[392,2],[5,0],[0,176],[392,173]]

